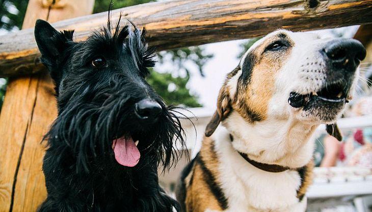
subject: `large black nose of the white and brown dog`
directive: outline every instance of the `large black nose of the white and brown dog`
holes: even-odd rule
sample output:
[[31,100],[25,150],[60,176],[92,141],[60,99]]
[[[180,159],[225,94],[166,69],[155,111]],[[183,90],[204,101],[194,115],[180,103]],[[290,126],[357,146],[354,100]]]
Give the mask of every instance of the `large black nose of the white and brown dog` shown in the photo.
[[328,42],[323,51],[334,65],[338,67],[350,67],[348,69],[353,72],[366,55],[362,43],[358,40],[347,38]]

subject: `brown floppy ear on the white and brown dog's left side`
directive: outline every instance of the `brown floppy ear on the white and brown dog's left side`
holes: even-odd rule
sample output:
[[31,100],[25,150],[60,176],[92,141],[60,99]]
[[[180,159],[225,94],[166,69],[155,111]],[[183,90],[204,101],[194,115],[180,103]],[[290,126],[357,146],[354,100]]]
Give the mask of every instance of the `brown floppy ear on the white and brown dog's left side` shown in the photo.
[[213,114],[207,127],[205,128],[205,136],[211,136],[221,121],[226,119],[231,111],[231,99],[227,90],[226,83],[220,89],[220,93],[217,100],[217,110]]

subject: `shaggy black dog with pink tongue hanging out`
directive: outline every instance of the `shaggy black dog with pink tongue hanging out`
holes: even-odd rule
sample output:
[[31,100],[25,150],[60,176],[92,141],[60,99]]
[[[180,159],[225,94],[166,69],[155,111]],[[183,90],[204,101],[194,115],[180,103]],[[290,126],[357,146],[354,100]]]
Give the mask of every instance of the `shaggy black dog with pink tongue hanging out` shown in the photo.
[[[120,19],[119,19],[120,22]],[[145,30],[94,32],[74,42],[37,20],[35,38],[56,85],[58,117],[45,138],[47,199],[39,211],[172,211],[157,166],[177,160],[179,119],[146,83],[154,65]],[[113,31],[113,32],[112,32]]]

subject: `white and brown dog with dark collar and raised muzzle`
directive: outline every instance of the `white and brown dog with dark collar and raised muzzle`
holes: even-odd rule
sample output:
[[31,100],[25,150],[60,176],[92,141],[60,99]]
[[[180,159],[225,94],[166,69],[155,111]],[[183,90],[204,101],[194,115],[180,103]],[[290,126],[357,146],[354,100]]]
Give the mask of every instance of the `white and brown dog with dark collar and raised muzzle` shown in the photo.
[[[227,75],[198,155],[183,170],[184,211],[304,211],[311,139],[335,124],[365,57],[354,39],[275,31]],[[222,122],[222,126],[219,126]]]

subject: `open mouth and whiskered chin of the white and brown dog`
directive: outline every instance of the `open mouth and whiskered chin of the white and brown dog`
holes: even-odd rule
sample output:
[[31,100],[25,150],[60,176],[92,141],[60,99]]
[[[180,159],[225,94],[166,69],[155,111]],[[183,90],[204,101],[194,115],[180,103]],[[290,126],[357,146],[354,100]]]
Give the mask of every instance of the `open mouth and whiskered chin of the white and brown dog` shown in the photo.
[[330,83],[317,91],[289,94],[288,104],[300,111],[301,120],[318,124],[334,123],[348,102],[350,88],[340,83]]

